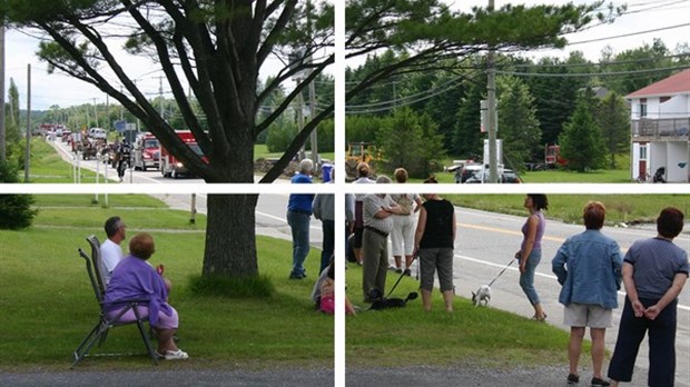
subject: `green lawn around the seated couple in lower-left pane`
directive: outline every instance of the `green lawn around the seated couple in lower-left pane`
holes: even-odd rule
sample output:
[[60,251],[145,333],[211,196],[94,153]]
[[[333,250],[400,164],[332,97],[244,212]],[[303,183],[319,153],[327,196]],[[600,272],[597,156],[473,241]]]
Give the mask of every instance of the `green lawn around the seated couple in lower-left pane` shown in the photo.
[[[121,215],[129,236],[148,230],[156,238],[151,264],[165,264],[172,281],[170,304],[180,314],[180,347],[191,356],[174,367],[228,366],[332,367],[333,318],[313,310],[309,300],[319,251],[306,260],[310,280],[287,279],[290,244],[257,237],[258,265],[272,296],[231,298],[201,296],[191,284],[201,272],[204,216],[188,225],[184,211],[162,210],[145,196],[111,196],[111,207],[90,205],[89,196],[36,196],[40,207],[34,224],[22,231],[0,230],[0,357],[1,370],[66,369],[71,353],[97,321],[98,308],[77,247],[96,234],[102,222]],[[73,206],[68,210],[53,206]],[[145,206],[131,208],[132,202]],[[126,207],[118,207],[124,205]],[[98,353],[135,353],[141,356],[85,359],[80,368],[150,368],[134,326],[114,329]]]

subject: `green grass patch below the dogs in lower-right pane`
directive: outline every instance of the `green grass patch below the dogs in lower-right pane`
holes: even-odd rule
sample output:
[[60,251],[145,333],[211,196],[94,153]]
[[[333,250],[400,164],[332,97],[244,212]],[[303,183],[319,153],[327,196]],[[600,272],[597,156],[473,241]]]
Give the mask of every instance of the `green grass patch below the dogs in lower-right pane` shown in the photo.
[[[393,297],[415,291],[417,286],[416,280],[403,278]],[[347,288],[351,300],[361,305],[361,267],[353,265],[347,270]],[[418,298],[406,308],[347,317],[347,366],[400,367],[412,361],[516,368],[568,364],[564,348],[569,336],[558,327],[494,308],[475,308],[462,297],[455,297],[454,312],[446,314],[438,291],[432,302],[428,314]]]

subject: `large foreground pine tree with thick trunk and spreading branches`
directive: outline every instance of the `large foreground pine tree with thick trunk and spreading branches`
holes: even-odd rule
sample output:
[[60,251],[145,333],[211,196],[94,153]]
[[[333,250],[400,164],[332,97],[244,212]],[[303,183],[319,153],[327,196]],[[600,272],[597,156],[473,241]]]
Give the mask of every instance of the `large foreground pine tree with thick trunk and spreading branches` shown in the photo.
[[[504,6],[494,12],[475,9],[471,14],[456,14],[436,0],[348,1],[346,58],[384,48],[414,53],[366,75],[347,90],[346,99],[396,75],[428,70],[445,58],[475,53],[486,47],[562,47],[565,40],[561,36],[586,26],[598,6]],[[0,17],[42,33],[46,40],[40,57],[51,70],[91,83],[119,101],[191,172],[209,183],[254,181],[257,136],[335,57],[334,7],[327,1],[7,0],[0,3]],[[147,100],[122,67],[130,57],[117,51],[118,44],[160,66],[187,128],[208,162],[181,142]],[[272,56],[278,57],[283,67],[272,83],[257,91],[259,70]],[[266,96],[297,78],[299,81],[274,111],[257,121]],[[203,130],[191,108],[187,88],[199,101],[208,131]],[[282,173],[312,130],[333,110],[333,103],[319,105],[262,182],[270,182]],[[247,278],[258,274],[256,202],[256,194],[208,196],[205,276]]]

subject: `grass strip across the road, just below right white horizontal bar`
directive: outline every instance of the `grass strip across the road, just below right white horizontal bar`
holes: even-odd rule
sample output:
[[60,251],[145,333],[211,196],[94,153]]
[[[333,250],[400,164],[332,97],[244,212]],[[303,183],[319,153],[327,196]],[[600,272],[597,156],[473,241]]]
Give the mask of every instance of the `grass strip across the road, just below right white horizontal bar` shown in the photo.
[[[443,195],[456,206],[491,212],[525,215],[524,195]],[[690,214],[688,195],[549,195],[546,216],[566,222],[582,222],[582,208],[589,200],[607,207],[607,225],[653,222],[659,211],[674,206]],[[462,219],[459,219],[462,221]]]

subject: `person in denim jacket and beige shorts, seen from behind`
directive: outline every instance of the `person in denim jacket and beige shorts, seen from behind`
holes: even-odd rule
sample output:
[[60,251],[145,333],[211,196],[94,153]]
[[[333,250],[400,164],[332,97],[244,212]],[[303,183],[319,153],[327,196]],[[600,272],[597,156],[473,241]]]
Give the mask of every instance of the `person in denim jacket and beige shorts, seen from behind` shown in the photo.
[[613,309],[618,308],[623,259],[615,240],[601,232],[605,214],[601,202],[588,202],[582,215],[586,230],[568,238],[551,262],[562,286],[559,302],[564,305],[563,324],[570,326],[568,384],[571,385],[580,381],[578,363],[586,327],[592,338],[591,386],[610,385],[603,380],[601,368],[607,328],[613,326]]

